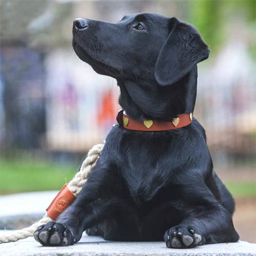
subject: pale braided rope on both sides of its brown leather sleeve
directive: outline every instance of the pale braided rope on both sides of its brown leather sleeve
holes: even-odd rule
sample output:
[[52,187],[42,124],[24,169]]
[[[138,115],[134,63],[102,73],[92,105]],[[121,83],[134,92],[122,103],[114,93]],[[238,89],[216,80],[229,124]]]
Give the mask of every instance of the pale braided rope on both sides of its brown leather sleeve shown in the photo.
[[[91,150],[89,151],[87,158],[83,160],[83,163],[80,167],[79,172],[75,175],[75,177],[69,182],[68,187],[70,191],[77,196],[84,183],[87,181],[88,174],[91,172],[92,168],[95,166],[100,153],[102,151],[103,144],[97,144],[94,145]],[[1,234],[0,235],[0,244],[2,243],[8,243],[8,242],[15,242],[20,239],[25,239],[28,237],[32,237],[34,231],[42,224],[46,224],[48,222],[52,221],[52,219],[46,214],[42,219],[35,222],[29,227],[15,230],[12,232],[9,232],[7,234]]]

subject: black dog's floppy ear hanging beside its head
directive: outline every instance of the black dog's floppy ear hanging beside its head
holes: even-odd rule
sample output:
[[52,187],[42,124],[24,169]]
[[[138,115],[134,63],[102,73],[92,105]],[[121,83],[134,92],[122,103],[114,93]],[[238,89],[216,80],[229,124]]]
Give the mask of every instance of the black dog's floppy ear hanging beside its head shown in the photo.
[[174,17],[169,28],[155,66],[155,78],[161,86],[177,82],[209,56],[208,46],[194,27]]

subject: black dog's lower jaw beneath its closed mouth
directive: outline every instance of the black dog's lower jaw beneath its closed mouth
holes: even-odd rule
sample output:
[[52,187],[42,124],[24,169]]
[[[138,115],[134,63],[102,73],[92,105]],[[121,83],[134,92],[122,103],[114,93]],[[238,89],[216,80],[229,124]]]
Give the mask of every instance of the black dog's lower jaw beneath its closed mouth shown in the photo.
[[73,49],[76,53],[76,55],[84,62],[88,63],[92,66],[92,68],[99,74],[103,75],[117,75],[119,74],[119,71],[113,67],[111,67],[109,64],[105,64],[92,55],[90,55],[86,50],[84,50],[77,41],[73,38]]

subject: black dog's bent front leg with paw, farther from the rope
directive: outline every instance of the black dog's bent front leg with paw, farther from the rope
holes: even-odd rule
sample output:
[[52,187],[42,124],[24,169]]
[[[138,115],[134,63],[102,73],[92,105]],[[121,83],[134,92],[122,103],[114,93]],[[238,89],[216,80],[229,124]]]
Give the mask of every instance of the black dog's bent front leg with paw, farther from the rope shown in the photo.
[[165,232],[167,247],[192,248],[239,240],[231,215],[203,181],[190,179],[189,184],[182,184],[179,189],[185,214],[179,225]]

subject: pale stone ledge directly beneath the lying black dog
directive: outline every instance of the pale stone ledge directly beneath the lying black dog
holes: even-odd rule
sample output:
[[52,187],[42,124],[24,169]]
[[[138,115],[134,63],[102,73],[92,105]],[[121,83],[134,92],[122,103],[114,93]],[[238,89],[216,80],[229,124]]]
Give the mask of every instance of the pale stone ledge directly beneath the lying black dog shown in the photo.
[[[0,231],[0,235],[8,231]],[[44,247],[33,238],[0,244],[4,256],[256,256],[256,244],[248,242],[198,246],[193,249],[169,249],[164,242],[110,242],[83,234],[69,247]]]

